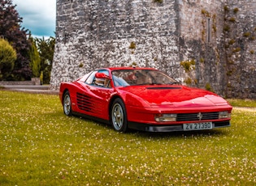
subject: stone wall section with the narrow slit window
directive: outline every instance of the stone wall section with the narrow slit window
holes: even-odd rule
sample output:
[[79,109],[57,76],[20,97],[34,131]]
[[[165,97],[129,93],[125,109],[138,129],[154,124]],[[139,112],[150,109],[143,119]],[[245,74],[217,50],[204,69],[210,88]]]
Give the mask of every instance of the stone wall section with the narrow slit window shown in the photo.
[[186,84],[224,96],[223,6],[222,0],[180,1],[180,61],[195,63],[184,71]]

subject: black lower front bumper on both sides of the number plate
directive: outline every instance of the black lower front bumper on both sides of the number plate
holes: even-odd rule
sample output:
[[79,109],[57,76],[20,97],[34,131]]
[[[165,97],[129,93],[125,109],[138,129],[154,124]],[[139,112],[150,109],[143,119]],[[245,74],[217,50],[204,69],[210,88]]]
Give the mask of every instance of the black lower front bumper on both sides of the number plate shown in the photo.
[[[229,126],[230,126],[230,120],[212,122],[212,129],[229,127]],[[146,132],[184,131],[183,125],[150,125],[150,124],[142,124],[142,123],[135,123],[135,122],[129,122],[128,128],[142,130]]]

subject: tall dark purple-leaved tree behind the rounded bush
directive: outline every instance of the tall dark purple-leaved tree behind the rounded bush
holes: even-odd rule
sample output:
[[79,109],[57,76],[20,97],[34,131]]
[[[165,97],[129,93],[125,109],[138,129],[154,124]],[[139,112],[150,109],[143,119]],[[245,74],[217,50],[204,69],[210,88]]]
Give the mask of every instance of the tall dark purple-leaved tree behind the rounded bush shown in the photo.
[[17,53],[11,80],[30,79],[32,71],[29,66],[28,51],[30,42],[27,39],[28,30],[20,27],[22,18],[15,10],[11,0],[0,0],[0,36],[7,39]]

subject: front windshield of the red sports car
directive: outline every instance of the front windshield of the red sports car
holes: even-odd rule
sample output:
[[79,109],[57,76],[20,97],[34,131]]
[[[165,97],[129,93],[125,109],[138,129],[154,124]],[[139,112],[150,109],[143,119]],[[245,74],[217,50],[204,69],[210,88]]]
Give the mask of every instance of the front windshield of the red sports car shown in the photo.
[[170,85],[176,80],[158,70],[114,70],[112,77],[115,87],[134,85]]

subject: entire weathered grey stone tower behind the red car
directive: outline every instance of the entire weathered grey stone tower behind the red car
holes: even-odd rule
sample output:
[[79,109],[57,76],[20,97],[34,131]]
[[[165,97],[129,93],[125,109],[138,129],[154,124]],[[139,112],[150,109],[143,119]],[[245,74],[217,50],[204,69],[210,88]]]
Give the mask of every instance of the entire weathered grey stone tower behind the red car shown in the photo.
[[256,97],[254,0],[57,0],[56,21],[52,89],[95,68],[136,64]]

